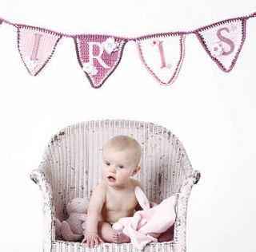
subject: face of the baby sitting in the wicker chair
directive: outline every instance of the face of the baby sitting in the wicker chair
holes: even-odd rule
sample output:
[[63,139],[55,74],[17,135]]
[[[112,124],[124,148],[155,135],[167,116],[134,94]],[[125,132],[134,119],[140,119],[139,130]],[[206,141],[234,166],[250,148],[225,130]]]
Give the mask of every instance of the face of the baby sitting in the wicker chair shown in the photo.
[[125,186],[138,167],[134,151],[106,148],[102,157],[102,179],[112,187]]

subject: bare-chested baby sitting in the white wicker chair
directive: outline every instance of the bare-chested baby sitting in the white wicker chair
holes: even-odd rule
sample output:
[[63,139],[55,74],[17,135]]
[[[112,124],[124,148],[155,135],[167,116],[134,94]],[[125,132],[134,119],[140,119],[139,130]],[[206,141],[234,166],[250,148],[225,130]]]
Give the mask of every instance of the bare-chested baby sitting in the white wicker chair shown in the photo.
[[115,136],[104,146],[102,183],[95,187],[87,211],[86,236],[82,240],[86,246],[130,242],[130,238],[111,225],[122,217],[133,216],[134,210],[141,210],[134,188],[142,185],[131,178],[140,170],[141,154],[140,145],[129,136]]

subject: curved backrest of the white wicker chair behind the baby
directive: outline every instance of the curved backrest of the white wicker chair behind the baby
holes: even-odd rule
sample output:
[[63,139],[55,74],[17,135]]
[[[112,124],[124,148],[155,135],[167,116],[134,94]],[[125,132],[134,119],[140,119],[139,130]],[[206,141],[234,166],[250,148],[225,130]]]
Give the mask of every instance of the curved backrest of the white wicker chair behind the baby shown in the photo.
[[102,147],[113,136],[126,135],[142,146],[138,179],[150,200],[161,202],[177,194],[192,167],[174,134],[155,124],[130,120],[102,120],[74,124],[58,132],[48,144],[42,167],[54,194],[58,219],[66,218],[66,203],[90,195],[101,181]]

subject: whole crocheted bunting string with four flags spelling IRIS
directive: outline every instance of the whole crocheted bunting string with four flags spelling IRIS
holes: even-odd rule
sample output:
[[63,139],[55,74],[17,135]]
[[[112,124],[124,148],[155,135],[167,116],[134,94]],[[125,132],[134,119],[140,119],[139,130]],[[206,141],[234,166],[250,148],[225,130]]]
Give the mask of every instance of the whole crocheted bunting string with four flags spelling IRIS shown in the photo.
[[[222,71],[230,72],[246,40],[247,16],[215,22],[187,32],[154,33],[140,37],[118,37],[103,34],[67,34],[54,30],[9,22],[0,18],[0,25],[17,28],[18,52],[26,69],[36,76],[50,61],[63,37],[74,39],[78,64],[90,85],[100,88],[121,61],[127,42],[135,41],[138,54],[149,73],[161,85],[170,85],[178,77],[185,57],[185,40],[196,35],[203,49]],[[1,33],[0,33],[1,36]]]

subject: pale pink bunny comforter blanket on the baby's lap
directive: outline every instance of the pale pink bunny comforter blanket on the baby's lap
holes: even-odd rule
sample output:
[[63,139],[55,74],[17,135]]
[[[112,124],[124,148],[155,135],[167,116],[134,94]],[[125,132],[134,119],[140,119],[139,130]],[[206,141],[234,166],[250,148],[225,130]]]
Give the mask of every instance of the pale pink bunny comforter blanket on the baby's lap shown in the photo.
[[176,197],[170,196],[158,206],[150,208],[146,195],[139,187],[135,188],[135,195],[143,210],[135,212],[133,217],[120,219],[113,228],[120,230],[122,226],[122,232],[130,237],[130,242],[142,250],[146,244],[158,242],[159,235],[174,224]]

